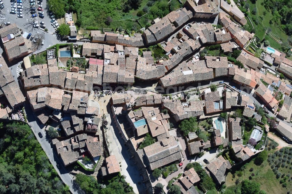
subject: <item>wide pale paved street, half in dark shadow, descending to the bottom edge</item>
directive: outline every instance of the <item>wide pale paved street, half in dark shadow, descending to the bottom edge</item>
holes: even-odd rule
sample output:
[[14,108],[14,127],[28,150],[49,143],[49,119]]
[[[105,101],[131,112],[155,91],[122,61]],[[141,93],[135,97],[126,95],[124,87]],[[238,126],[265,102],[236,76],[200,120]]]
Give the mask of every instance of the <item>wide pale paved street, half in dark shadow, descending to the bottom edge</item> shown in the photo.
[[128,148],[125,146],[124,140],[120,137],[115,124],[112,123],[110,114],[107,114],[106,119],[109,125],[109,142],[111,142],[109,148],[112,150],[112,154],[116,156],[117,160],[121,162],[121,174],[126,176],[125,180],[133,187],[135,193],[143,193],[145,189],[141,184],[142,179],[136,165],[133,163],[133,160],[131,160],[130,154],[128,154]]

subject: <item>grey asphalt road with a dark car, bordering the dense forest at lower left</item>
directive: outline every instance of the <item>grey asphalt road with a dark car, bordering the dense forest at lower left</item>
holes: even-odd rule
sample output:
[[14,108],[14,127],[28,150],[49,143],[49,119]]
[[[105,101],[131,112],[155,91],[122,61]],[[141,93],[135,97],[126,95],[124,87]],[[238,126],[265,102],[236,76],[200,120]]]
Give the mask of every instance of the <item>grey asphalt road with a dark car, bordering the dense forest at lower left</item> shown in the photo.
[[[61,177],[62,181],[67,184],[70,187],[70,191],[73,194],[82,193],[82,191],[77,191],[78,186],[73,182],[73,176],[70,176],[67,169],[63,166],[62,162],[59,160],[58,155],[55,153],[55,150],[51,146],[50,142],[46,139],[46,133],[44,131],[44,128],[40,128],[39,125],[34,117],[34,114],[29,107],[29,105],[25,105],[25,112],[27,114],[27,121],[32,126],[32,131],[34,132],[34,135],[36,136],[36,139],[41,144],[41,147],[44,149],[46,155],[48,156],[51,164],[54,166],[55,170],[58,172],[59,176]],[[42,138],[39,137],[38,133],[41,132],[43,135]],[[57,168],[56,164],[60,164],[60,169]]]

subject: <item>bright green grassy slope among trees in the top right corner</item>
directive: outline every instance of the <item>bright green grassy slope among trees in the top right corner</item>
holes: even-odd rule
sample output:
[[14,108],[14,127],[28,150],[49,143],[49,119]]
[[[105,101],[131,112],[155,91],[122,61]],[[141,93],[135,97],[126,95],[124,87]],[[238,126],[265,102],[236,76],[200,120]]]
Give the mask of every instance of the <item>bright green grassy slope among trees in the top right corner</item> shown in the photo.
[[[287,40],[288,36],[286,35],[286,33],[284,31],[282,31],[282,29],[278,26],[278,24],[275,24],[274,22],[272,24],[269,23],[270,20],[272,19],[271,18],[271,13],[270,13],[269,10],[266,10],[266,8],[262,5],[264,0],[258,0],[258,1],[255,1],[255,2],[256,3],[253,4],[253,3],[251,3],[251,0],[247,0],[246,1],[246,3],[249,4],[249,10],[250,10],[249,18],[251,19],[251,21],[252,21],[252,16],[253,16],[253,14],[251,12],[252,12],[253,8],[255,8],[255,7],[257,8],[256,15],[259,15],[259,16],[263,17],[262,22],[259,22],[258,25],[256,25],[252,21],[253,22],[253,26],[255,27],[256,36],[258,36],[262,40],[263,37],[264,37],[264,34],[265,34],[264,27],[270,27],[272,29],[272,33],[274,35],[276,35],[277,37],[279,37],[279,39]],[[264,14],[264,12],[265,12],[265,14]],[[280,24],[280,21],[279,21],[279,24]],[[272,39],[272,38],[270,38],[270,39]]]

